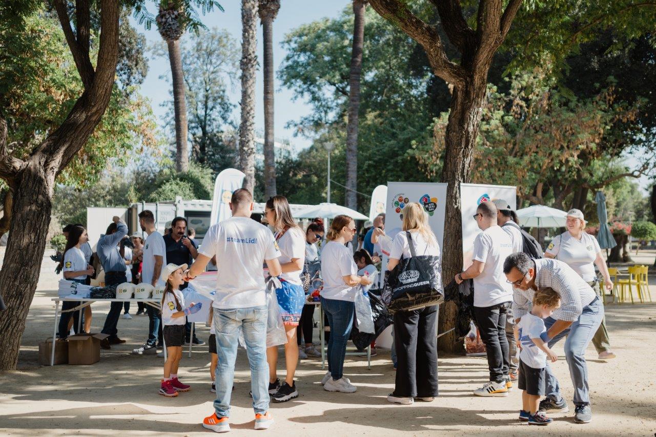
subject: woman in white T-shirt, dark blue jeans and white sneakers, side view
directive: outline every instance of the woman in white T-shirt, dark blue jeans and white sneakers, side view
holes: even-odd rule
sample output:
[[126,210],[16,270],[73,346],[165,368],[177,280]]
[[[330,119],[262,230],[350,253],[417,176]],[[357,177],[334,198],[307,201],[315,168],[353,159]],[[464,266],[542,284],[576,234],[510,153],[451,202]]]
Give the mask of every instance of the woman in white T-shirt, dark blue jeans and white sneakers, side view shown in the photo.
[[360,285],[371,283],[366,276],[358,276],[353,252],[346,247],[346,242],[353,239],[356,230],[352,218],[338,215],[333,218],[326,236],[328,242],[321,249],[321,307],[330,325],[328,372],[321,383],[324,390],[329,392],[352,393],[357,390],[342,373],[346,342],[353,325],[356,293]]

